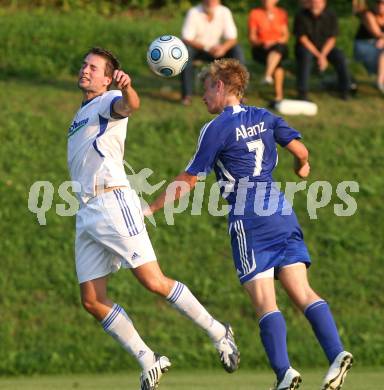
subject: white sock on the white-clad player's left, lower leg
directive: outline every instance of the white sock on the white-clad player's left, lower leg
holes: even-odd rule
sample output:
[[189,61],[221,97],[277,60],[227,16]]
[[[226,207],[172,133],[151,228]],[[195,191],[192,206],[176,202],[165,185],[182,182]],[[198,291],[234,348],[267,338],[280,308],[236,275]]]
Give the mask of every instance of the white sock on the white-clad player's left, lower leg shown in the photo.
[[143,369],[148,369],[154,363],[153,351],[141,339],[132,321],[121,306],[115,303],[101,321],[101,325],[109,335],[138,360]]

